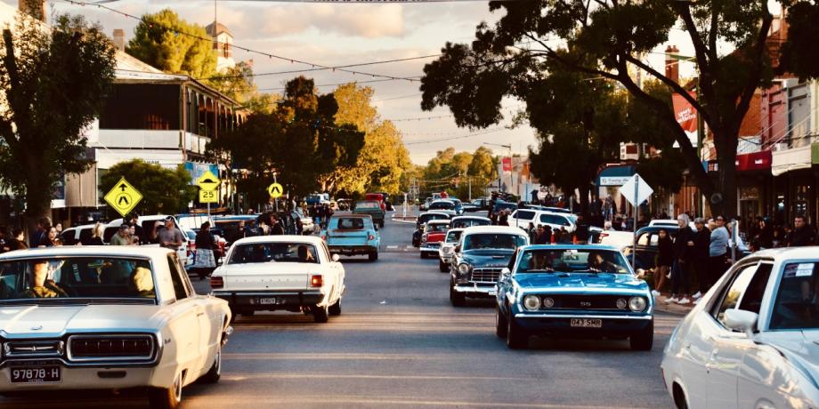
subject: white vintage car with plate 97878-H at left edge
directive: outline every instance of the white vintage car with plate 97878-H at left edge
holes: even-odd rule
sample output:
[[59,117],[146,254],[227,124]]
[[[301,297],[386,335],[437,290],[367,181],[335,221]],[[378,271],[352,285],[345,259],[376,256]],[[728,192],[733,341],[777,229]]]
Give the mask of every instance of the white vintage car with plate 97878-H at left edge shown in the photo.
[[147,387],[174,408],[215,382],[226,302],[197,295],[175,252],[52,247],[0,255],[0,393]]

